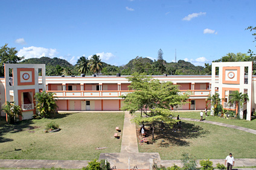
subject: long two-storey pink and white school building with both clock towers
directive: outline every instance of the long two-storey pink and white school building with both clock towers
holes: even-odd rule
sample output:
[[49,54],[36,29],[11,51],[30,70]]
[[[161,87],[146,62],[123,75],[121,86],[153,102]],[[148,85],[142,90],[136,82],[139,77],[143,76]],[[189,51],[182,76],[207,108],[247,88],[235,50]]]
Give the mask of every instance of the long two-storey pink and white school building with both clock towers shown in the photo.
[[[234,90],[247,93],[249,101],[239,110],[240,118],[251,120],[256,108],[254,91],[256,76],[252,75],[252,62],[213,63],[212,75],[154,75],[161,81],[172,81],[181,92],[190,91],[189,103],[179,105],[178,110],[211,109],[206,105],[208,95],[219,93],[224,109],[235,110],[228,104]],[[9,76],[9,72],[13,76]],[[40,75],[40,76],[39,76]],[[34,94],[46,90],[55,93],[58,110],[120,110],[123,99],[119,96],[132,93],[130,82],[123,76],[45,76],[45,65],[5,64],[5,77],[0,78],[0,104],[14,101],[22,109],[22,119],[30,119],[36,113]],[[176,108],[174,108],[176,109]],[[1,116],[5,116],[1,112]]]

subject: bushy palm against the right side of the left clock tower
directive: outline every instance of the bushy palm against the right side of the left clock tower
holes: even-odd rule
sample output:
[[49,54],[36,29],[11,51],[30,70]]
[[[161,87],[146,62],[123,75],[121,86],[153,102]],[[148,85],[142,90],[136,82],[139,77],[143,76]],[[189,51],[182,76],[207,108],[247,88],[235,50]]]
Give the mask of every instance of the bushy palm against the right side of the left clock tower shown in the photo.
[[36,109],[39,110],[40,116],[43,118],[48,118],[52,113],[55,113],[57,110],[56,99],[54,99],[54,93],[37,92],[34,95],[35,100],[37,101]]

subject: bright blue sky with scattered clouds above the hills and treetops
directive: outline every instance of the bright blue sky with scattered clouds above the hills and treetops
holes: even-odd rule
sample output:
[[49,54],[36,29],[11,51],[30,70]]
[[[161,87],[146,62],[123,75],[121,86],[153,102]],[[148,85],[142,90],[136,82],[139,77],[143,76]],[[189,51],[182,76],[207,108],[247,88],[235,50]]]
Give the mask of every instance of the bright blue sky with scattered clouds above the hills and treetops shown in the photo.
[[[136,56],[204,65],[228,52],[255,49],[255,0],[0,1],[0,46],[20,56],[59,57],[73,65],[100,55],[112,65]],[[254,50],[255,51],[255,50]]]

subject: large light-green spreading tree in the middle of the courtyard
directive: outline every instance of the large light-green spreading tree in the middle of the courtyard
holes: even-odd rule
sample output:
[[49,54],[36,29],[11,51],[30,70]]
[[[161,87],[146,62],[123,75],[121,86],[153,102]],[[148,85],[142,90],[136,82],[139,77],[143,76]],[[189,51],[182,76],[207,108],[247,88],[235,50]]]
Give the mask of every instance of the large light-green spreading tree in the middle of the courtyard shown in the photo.
[[[170,118],[170,109],[187,102],[188,95],[179,93],[178,86],[173,85],[170,81],[162,82],[145,74],[135,73],[128,77],[128,80],[131,82],[129,88],[134,92],[121,96],[124,98],[121,110],[127,110],[130,113],[141,110],[147,115],[146,118],[138,116],[133,121],[136,124],[147,122],[152,125],[154,139],[157,124],[164,122],[172,127],[176,123]],[[150,109],[151,112],[147,112],[147,109]]]

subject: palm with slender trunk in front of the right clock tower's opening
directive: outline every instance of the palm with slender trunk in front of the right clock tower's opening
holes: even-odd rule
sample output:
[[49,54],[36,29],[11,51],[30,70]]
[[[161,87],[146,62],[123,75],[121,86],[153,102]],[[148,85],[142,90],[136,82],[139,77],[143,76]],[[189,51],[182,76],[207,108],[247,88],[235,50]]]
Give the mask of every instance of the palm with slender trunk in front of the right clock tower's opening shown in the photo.
[[235,90],[234,92],[229,94],[229,97],[231,97],[231,99],[229,99],[228,102],[231,104],[235,103],[235,117],[237,117],[238,106],[242,107],[243,102],[245,102],[245,99],[247,99],[249,101],[248,94],[242,93],[242,92],[239,93],[238,90]]

